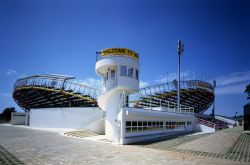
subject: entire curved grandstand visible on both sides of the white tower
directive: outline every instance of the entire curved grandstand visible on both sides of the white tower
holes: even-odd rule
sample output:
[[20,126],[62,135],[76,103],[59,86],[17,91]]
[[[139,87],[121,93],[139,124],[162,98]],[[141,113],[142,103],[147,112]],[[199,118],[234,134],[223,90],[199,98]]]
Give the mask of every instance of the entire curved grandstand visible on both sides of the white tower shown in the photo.
[[[33,75],[18,79],[13,98],[25,111],[32,108],[97,107],[99,89],[74,82],[72,76]],[[140,108],[172,107],[177,109],[177,82],[141,88]],[[205,112],[214,101],[213,85],[200,81],[181,81],[181,106],[192,107],[195,113]]]

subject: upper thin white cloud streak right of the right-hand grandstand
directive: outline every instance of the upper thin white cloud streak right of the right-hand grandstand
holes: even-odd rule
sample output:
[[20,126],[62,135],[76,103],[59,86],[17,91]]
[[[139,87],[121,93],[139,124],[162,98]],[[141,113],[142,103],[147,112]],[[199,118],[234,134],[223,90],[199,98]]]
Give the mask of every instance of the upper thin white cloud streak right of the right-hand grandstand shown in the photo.
[[218,86],[231,85],[250,81],[250,70],[244,72],[234,72],[228,75],[216,78]]

